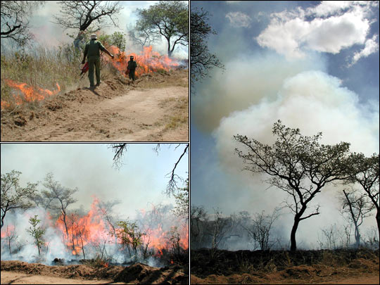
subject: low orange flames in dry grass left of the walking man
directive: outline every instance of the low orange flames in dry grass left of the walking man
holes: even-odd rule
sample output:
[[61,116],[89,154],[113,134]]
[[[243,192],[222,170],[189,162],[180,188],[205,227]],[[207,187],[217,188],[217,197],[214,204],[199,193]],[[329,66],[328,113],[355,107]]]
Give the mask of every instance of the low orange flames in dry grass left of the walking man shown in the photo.
[[[32,86],[28,86],[23,82],[15,82],[13,80],[4,80],[4,82],[15,90],[18,90],[17,94],[13,94],[13,99],[15,100],[16,105],[22,104],[24,101],[33,102],[33,101],[41,101],[46,97],[56,95],[59,91],[61,91],[61,87],[59,87],[58,83],[56,83],[56,90],[42,89],[37,88],[34,89]],[[1,108],[6,108],[10,106],[10,104],[6,101],[1,101]]]

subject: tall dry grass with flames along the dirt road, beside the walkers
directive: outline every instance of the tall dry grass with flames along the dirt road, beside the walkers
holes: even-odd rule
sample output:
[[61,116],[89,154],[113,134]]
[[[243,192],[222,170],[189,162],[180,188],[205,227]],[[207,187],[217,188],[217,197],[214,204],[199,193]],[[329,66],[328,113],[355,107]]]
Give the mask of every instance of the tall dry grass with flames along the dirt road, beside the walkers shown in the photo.
[[[137,61],[137,82],[143,88],[170,86],[189,86],[189,80],[171,78],[171,70],[184,66],[175,59],[161,56],[153,51],[151,46],[144,48],[141,53],[125,53],[115,46],[108,49],[115,53],[115,59],[102,55],[101,79],[110,80],[115,76],[127,77],[127,62],[129,55]],[[55,50],[42,47],[35,49],[34,54],[13,53],[11,56],[1,55],[1,110],[14,110],[20,105],[30,109],[39,108],[44,99],[88,86],[87,74],[80,80],[80,62],[82,53],[70,46],[61,46]],[[143,75],[157,73],[161,78],[153,77],[144,80]],[[184,70],[187,74],[189,70]],[[151,77],[151,76],[148,76]]]

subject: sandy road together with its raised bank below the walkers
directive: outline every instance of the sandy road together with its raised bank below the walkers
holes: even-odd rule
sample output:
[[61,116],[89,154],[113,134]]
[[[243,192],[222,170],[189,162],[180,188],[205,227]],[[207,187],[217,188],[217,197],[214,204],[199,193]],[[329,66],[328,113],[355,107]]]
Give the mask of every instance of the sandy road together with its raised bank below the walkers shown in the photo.
[[188,141],[185,70],[114,78],[39,106],[1,111],[1,141]]

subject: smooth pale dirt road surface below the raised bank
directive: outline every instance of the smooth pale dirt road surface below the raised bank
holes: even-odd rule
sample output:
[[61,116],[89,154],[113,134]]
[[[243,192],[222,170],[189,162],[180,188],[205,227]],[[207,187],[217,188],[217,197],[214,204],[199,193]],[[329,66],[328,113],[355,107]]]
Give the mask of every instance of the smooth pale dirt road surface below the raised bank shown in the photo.
[[56,125],[34,129],[27,141],[186,141],[189,130],[169,136],[166,125],[175,116],[175,102],[186,99],[184,87],[168,87],[127,94],[82,105],[80,115]]

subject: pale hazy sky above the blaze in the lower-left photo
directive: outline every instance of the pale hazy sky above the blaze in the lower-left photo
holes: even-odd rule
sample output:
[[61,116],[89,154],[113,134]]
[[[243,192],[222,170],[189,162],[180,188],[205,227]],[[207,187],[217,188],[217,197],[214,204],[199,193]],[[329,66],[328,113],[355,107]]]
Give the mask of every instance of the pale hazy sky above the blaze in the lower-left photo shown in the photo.
[[[78,202],[70,210],[89,210],[96,195],[101,201],[120,201],[115,207],[120,217],[133,218],[136,210],[151,209],[151,203],[175,205],[163,191],[165,177],[172,170],[184,148],[163,144],[158,154],[156,144],[130,144],[120,170],[113,167],[109,144],[1,144],[1,174],[18,170],[20,185],[43,181],[47,172],[63,186],[77,187]],[[185,155],[177,174],[186,178],[189,157]],[[39,189],[44,189],[40,184]]]

